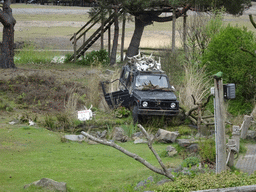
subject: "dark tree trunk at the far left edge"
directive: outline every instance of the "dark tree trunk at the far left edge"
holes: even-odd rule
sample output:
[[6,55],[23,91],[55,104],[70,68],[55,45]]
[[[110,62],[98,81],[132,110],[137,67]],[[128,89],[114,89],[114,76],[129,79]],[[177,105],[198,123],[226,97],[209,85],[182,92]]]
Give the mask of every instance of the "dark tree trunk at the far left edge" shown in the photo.
[[1,68],[15,68],[14,65],[14,25],[16,20],[12,16],[10,7],[11,0],[4,0],[2,10],[0,10],[0,22],[3,24],[2,53],[0,56]]

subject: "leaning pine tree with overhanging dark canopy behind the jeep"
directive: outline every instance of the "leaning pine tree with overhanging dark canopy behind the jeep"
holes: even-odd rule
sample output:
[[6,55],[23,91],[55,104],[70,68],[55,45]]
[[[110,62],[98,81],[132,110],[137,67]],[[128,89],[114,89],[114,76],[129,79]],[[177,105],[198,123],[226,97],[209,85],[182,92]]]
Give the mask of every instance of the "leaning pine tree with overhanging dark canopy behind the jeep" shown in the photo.
[[135,30],[127,50],[127,56],[130,57],[138,53],[145,26],[153,22],[168,22],[173,20],[173,16],[160,17],[163,12],[175,13],[176,18],[179,18],[185,15],[189,9],[206,12],[225,7],[227,13],[241,15],[244,9],[251,5],[251,0],[130,0],[123,1],[122,4],[127,12],[135,17]]

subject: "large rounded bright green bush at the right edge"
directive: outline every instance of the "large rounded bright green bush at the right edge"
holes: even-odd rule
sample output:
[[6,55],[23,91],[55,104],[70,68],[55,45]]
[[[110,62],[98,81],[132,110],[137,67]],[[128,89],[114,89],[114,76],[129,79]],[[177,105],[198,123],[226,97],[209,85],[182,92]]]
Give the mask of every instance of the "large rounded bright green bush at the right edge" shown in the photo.
[[250,100],[256,94],[255,37],[246,28],[227,26],[216,35],[203,55],[211,74],[222,71],[227,83],[236,84],[237,98]]

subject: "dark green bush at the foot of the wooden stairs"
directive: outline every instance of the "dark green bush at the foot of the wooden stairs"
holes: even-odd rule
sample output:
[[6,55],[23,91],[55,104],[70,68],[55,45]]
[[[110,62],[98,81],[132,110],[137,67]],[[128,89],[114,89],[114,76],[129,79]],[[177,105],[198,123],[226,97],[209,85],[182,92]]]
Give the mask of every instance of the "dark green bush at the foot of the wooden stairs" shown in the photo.
[[87,53],[82,60],[78,60],[77,63],[87,66],[97,66],[100,64],[107,66],[109,65],[108,52],[105,49],[99,51],[93,50],[90,53]]

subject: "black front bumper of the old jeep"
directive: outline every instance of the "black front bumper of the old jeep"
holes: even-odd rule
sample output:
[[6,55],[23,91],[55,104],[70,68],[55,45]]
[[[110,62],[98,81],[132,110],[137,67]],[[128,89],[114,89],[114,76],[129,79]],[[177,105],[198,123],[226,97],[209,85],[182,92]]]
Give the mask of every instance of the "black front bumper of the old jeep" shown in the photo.
[[177,116],[179,110],[138,109],[139,115]]

